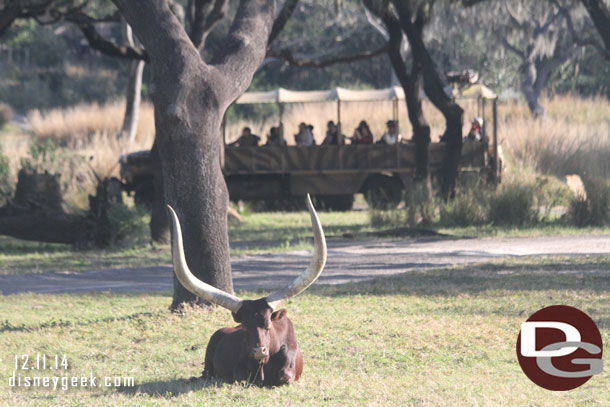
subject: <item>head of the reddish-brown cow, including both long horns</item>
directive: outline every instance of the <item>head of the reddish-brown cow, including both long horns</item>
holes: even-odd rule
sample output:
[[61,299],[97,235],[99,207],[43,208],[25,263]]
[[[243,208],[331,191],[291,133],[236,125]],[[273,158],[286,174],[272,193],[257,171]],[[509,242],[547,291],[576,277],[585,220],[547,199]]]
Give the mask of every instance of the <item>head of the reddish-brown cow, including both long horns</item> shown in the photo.
[[309,208],[314,234],[314,251],[311,264],[292,283],[258,300],[242,300],[204,283],[191,273],[184,257],[180,221],[172,207],[169,205],[168,207],[172,218],[172,257],[176,277],[193,294],[230,310],[235,321],[242,324],[247,333],[247,346],[250,355],[255,360],[266,363],[269,360],[272,321],[280,320],[286,315],[286,310],[279,309],[279,307],[286,300],[303,292],[313,284],[326,264],[324,231],[309,195],[307,195],[307,207]]

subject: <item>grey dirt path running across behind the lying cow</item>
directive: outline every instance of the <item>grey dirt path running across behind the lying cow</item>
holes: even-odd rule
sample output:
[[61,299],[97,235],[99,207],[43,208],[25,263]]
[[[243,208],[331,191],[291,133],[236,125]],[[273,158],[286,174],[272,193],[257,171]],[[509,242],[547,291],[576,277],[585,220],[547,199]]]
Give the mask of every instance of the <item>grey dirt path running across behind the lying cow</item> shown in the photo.
[[[563,236],[490,239],[419,239],[329,242],[328,262],[319,283],[341,284],[422,268],[484,262],[513,256],[610,254],[610,236]],[[291,281],[307,267],[311,253],[239,256],[232,261],[237,289],[270,289]],[[0,292],[67,293],[86,291],[143,292],[172,289],[169,265],[0,276]]]

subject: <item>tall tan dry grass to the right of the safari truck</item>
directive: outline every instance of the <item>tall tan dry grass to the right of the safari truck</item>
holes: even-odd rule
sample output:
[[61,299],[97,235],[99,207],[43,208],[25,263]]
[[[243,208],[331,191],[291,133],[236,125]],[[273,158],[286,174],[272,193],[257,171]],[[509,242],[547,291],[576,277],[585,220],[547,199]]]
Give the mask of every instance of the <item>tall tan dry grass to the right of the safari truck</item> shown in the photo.
[[499,139],[510,167],[610,178],[610,102],[566,95],[543,104],[546,116],[536,121],[523,103],[501,106]]

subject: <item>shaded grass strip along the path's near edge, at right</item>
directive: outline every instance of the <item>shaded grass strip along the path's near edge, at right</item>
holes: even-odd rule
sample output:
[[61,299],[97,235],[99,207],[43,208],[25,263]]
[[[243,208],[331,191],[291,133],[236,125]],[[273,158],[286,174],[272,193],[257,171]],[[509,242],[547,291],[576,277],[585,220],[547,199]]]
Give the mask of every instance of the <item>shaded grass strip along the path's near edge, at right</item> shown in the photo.
[[411,271],[357,283],[318,285],[310,294],[457,296],[494,290],[610,291],[610,256],[537,256]]

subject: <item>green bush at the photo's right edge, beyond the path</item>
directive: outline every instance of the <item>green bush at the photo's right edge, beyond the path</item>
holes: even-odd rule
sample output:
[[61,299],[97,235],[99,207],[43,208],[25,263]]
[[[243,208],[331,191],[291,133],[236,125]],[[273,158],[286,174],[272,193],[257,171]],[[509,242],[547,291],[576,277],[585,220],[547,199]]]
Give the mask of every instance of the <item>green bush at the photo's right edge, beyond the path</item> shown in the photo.
[[578,227],[610,225],[610,185],[599,178],[585,180],[584,184],[587,196],[572,199],[568,222]]

